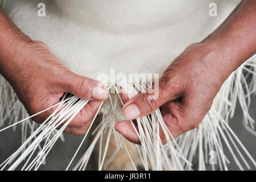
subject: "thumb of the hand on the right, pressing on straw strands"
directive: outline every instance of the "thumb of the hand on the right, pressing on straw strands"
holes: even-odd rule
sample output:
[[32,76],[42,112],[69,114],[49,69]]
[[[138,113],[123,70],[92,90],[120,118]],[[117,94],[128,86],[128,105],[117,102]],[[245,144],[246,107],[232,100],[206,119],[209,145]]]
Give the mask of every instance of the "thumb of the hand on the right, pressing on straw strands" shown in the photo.
[[179,93],[177,85],[175,86],[172,81],[161,77],[153,89],[147,90],[146,93],[140,93],[127,101],[123,105],[122,114],[128,120],[151,114],[166,102],[178,98],[179,94],[177,93]]

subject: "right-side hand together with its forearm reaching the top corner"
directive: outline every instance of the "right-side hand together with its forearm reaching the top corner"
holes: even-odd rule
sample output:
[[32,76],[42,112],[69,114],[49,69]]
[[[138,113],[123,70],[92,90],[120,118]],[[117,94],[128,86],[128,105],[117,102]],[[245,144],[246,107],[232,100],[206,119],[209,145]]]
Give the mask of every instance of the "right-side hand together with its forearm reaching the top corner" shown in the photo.
[[[241,1],[215,31],[187,47],[163,73],[156,100],[149,100],[149,93],[129,101],[125,96],[125,118],[142,117],[160,107],[174,138],[197,127],[226,78],[256,53],[255,7],[254,0]],[[139,143],[129,121],[119,121],[115,129]],[[160,136],[166,143],[162,131]]]

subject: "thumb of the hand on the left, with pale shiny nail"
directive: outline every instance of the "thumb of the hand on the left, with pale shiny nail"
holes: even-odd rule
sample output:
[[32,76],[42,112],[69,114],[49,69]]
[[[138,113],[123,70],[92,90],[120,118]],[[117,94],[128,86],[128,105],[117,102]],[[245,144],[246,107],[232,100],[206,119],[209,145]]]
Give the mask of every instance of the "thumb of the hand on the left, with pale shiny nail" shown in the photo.
[[101,82],[71,71],[67,71],[62,81],[62,89],[62,92],[69,92],[86,100],[105,101],[109,97],[109,91]]

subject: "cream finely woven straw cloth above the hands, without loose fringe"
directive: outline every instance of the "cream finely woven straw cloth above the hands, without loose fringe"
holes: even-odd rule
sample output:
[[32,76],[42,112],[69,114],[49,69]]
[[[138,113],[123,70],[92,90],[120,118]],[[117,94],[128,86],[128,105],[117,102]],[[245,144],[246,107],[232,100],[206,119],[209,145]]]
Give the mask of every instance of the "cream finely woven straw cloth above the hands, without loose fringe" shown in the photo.
[[[38,3],[46,17],[38,17]],[[216,3],[218,16],[209,16]],[[33,40],[45,42],[71,71],[162,73],[190,43],[210,34],[236,0],[5,1],[3,8]]]

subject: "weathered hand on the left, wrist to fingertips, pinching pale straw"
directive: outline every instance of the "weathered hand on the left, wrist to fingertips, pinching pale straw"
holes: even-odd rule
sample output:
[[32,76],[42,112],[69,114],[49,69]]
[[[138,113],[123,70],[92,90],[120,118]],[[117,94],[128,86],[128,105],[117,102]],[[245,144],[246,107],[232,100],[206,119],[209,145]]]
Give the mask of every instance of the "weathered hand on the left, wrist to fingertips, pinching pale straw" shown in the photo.
[[[5,55],[9,55],[8,60],[5,59],[9,64],[6,64],[2,74],[13,86],[30,115],[58,104],[64,93],[71,93],[91,101],[64,131],[75,135],[87,132],[99,105],[109,96],[106,88],[101,87],[102,90],[99,90],[98,81],[71,72],[42,42],[22,43],[19,52],[10,49]],[[33,117],[33,120],[42,123],[56,108]]]

